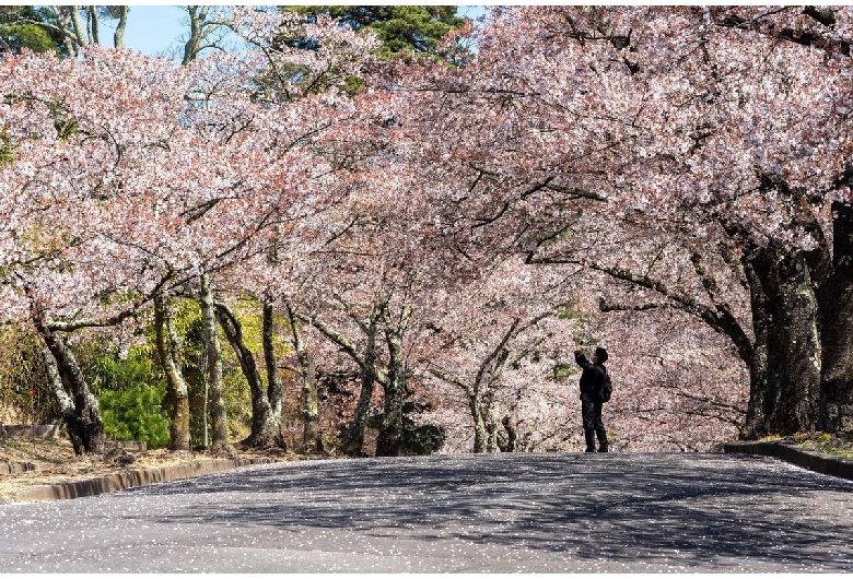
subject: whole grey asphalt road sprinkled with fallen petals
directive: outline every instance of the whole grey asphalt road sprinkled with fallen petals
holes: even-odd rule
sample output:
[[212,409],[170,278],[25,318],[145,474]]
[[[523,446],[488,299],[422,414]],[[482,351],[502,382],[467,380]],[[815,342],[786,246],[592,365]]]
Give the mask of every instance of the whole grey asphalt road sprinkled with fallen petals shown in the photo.
[[724,454],[328,460],[0,506],[0,572],[853,571],[853,483]]

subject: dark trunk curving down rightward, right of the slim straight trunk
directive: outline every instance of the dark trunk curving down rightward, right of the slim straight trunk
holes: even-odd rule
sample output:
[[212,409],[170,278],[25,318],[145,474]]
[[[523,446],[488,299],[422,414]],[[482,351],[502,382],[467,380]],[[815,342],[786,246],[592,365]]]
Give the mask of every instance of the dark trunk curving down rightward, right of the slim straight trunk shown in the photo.
[[276,421],[255,355],[246,345],[243,324],[224,304],[215,304],[217,318],[239,361],[252,392],[252,434],[245,442],[255,448],[282,447],[281,423]]

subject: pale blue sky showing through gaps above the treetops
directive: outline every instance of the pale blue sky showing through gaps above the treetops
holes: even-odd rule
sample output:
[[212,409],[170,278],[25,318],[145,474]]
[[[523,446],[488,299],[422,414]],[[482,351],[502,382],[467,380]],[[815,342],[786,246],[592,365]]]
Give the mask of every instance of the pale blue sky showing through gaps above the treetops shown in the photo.
[[[459,14],[476,19],[482,7],[459,7]],[[187,33],[183,7],[130,5],[125,46],[151,56],[175,56],[183,50],[180,37]]]

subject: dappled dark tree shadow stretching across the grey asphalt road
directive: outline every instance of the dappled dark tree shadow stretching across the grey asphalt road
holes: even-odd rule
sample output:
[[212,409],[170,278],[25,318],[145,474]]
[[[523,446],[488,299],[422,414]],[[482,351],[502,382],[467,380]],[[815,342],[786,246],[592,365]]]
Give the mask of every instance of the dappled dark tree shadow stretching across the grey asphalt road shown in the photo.
[[[165,522],[347,529],[572,558],[738,559],[853,570],[853,486],[772,460],[500,454],[265,466],[139,489],[189,495]],[[734,569],[733,569],[734,570]]]

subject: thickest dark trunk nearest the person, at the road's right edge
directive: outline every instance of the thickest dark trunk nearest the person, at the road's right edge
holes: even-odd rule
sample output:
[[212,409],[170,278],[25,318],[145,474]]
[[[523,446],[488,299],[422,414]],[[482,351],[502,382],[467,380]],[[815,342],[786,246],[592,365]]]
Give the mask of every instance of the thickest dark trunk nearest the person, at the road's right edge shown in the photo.
[[757,249],[749,275],[756,347],[743,438],[815,428],[820,395],[817,296],[805,255]]

